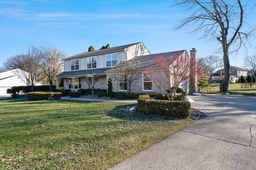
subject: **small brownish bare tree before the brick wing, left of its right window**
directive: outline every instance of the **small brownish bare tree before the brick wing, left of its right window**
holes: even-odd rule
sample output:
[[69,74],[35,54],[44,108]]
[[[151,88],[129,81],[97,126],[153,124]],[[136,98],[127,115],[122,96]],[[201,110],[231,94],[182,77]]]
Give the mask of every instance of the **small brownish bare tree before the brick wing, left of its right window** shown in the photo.
[[138,67],[138,62],[135,62],[134,60],[129,60],[126,62],[121,62],[118,65],[115,65],[113,67],[113,70],[118,72],[119,76],[116,77],[118,79],[123,79],[122,81],[126,82],[124,83],[124,88],[127,89],[127,93],[131,94],[132,92],[132,83],[135,80],[140,79],[140,72]]

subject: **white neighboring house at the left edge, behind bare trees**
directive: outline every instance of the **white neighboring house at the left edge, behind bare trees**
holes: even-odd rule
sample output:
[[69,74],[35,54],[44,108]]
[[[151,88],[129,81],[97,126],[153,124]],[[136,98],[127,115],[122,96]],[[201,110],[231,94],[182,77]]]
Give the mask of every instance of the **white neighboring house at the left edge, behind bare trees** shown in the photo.
[[[17,73],[20,71],[20,69],[14,69],[0,73],[0,96],[10,96],[10,94],[6,93],[6,90],[13,86],[29,86],[29,80],[22,80],[18,77]],[[27,74],[29,75],[29,73]],[[36,86],[40,85],[42,84],[36,84]]]

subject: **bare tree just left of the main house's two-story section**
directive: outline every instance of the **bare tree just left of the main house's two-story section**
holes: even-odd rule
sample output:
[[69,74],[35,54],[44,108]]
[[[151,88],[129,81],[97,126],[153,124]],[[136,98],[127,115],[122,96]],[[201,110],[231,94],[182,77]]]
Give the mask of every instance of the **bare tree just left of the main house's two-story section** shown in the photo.
[[50,91],[53,90],[53,80],[61,72],[63,58],[66,55],[55,47],[41,47],[40,66],[50,84]]

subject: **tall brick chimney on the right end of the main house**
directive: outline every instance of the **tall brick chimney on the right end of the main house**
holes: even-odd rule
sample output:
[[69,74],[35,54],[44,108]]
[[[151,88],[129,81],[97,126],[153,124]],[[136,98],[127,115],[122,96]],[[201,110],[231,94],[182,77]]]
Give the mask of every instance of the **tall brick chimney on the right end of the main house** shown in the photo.
[[[190,69],[192,72],[196,72],[196,53],[196,48],[190,50],[190,62],[193,66]],[[195,92],[197,92],[197,78],[195,75],[191,75],[189,78],[189,94],[194,94]]]

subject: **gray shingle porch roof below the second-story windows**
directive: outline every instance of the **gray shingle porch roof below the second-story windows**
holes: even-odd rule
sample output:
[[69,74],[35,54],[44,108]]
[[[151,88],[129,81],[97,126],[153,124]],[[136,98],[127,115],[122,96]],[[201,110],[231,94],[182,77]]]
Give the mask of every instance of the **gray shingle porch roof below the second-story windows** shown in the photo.
[[105,74],[105,71],[107,71],[108,69],[109,68],[65,71],[65,72],[58,74],[56,77],[64,78],[64,77],[73,77],[73,76],[88,75],[88,74]]

